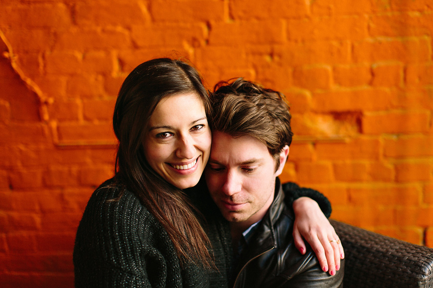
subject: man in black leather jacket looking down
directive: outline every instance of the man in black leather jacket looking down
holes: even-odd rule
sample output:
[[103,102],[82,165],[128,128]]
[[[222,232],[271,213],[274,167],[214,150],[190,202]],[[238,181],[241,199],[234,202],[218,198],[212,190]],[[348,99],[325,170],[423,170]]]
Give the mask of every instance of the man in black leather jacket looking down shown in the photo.
[[[292,139],[282,94],[241,78],[215,88],[205,175],[213,201],[229,221],[233,248],[219,243],[225,247],[225,260],[216,263],[220,273],[229,275],[233,287],[342,287],[344,260],[329,275],[311,248],[301,254],[291,236],[294,214],[278,179]],[[223,228],[224,221],[220,235]]]

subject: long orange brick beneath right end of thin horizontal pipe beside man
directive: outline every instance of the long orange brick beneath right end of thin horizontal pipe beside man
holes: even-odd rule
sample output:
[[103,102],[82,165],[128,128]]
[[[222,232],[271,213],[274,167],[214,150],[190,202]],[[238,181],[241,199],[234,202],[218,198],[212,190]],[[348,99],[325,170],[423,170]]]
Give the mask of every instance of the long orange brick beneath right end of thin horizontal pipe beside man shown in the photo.
[[381,143],[377,139],[351,139],[345,143],[316,143],[318,160],[378,159]]

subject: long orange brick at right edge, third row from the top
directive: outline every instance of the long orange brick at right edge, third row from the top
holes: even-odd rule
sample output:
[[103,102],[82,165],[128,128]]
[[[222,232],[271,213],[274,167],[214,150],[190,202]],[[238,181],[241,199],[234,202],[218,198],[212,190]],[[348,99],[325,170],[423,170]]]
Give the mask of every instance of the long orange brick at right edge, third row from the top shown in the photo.
[[353,44],[354,62],[399,61],[424,62],[431,58],[426,39],[368,40]]

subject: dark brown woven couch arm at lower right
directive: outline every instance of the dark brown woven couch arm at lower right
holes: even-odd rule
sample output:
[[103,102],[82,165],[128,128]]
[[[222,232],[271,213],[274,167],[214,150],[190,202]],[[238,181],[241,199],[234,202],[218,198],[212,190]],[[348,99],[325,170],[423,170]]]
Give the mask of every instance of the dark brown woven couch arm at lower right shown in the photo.
[[433,249],[331,223],[344,248],[344,288],[433,287]]

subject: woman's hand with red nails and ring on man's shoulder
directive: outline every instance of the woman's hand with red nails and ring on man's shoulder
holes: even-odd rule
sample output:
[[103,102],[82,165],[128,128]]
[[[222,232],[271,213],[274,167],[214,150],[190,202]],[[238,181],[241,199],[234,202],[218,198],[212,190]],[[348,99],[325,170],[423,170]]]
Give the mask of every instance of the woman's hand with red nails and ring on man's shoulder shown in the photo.
[[340,269],[340,258],[344,258],[343,246],[329,220],[323,215],[316,201],[301,197],[293,201],[295,220],[293,239],[296,248],[305,254],[304,240],[316,253],[323,271],[335,275]]

